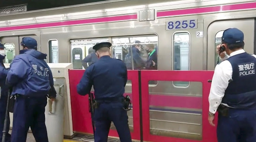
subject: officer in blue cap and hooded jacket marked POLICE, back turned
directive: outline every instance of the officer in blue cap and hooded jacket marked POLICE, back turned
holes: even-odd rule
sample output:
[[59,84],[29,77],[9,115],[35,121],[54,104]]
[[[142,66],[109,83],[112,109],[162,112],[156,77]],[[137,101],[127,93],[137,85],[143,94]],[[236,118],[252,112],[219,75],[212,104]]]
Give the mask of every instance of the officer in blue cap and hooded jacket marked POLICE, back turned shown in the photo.
[[20,44],[23,50],[13,59],[6,78],[16,96],[11,142],[26,142],[29,127],[35,141],[48,142],[44,111],[47,94],[52,101],[56,97],[52,72],[44,61],[47,55],[37,51],[35,39],[24,37]]

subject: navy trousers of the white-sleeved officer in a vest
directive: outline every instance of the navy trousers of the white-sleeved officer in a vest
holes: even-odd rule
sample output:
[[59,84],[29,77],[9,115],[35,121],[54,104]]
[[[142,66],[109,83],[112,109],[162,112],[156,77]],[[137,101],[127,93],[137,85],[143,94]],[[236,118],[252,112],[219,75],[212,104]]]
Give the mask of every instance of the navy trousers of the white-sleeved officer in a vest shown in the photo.
[[229,109],[229,116],[218,115],[218,142],[256,142],[256,110]]

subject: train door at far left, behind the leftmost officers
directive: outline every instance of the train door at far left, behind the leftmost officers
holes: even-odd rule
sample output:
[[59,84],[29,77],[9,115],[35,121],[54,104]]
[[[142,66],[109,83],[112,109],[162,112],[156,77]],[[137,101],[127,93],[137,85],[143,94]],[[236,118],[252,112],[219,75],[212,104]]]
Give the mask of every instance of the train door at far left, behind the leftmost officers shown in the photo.
[[18,36],[6,36],[1,37],[0,41],[4,45],[5,49],[5,64],[10,64],[15,55],[19,54],[19,38]]

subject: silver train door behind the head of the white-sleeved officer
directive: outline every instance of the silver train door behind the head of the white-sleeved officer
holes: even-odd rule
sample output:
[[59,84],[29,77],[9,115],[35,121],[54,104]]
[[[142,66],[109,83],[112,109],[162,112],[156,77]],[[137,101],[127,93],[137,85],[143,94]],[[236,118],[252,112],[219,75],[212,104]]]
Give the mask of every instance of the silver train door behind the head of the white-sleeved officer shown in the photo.
[[228,28],[241,30],[244,33],[245,52],[254,54],[254,27],[254,19],[223,20],[211,23],[207,30],[207,70],[214,70],[217,65],[216,46],[221,44],[223,32]]

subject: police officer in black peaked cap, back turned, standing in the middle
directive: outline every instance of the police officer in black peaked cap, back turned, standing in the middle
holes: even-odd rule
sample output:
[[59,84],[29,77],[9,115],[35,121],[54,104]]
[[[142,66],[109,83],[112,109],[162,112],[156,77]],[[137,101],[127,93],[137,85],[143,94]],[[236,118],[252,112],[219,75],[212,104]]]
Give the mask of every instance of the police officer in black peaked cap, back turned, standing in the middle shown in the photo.
[[80,95],[90,93],[93,85],[97,108],[94,111],[95,142],[107,142],[111,122],[114,123],[120,141],[131,142],[127,111],[123,109],[127,68],[119,59],[110,57],[111,43],[101,42],[93,49],[99,60],[85,71],[77,92]]

